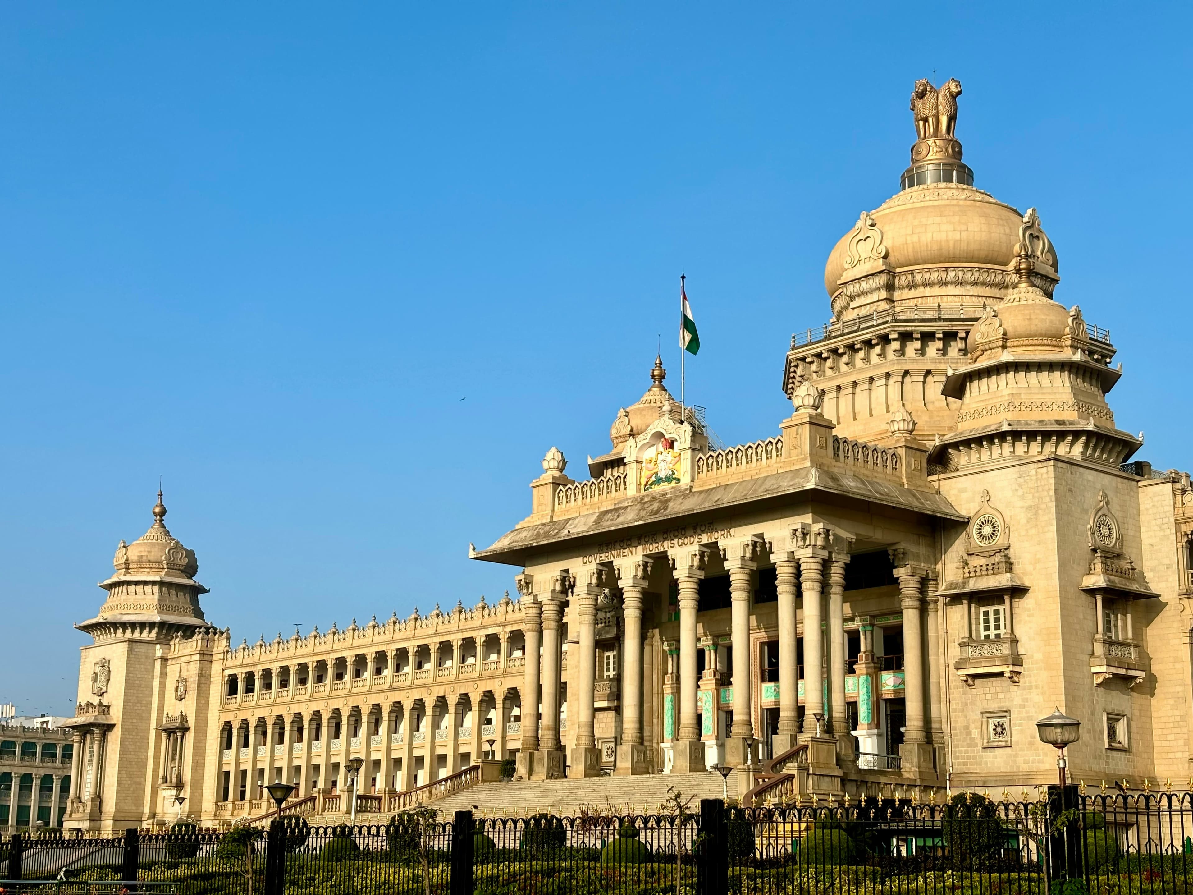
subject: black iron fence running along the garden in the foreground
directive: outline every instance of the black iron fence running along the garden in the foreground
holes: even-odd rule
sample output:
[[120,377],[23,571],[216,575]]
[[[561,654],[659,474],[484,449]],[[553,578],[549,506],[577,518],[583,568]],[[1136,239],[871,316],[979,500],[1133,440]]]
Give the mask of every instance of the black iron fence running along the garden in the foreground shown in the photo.
[[651,815],[0,840],[0,891],[104,895],[1193,895],[1193,795],[801,800]]

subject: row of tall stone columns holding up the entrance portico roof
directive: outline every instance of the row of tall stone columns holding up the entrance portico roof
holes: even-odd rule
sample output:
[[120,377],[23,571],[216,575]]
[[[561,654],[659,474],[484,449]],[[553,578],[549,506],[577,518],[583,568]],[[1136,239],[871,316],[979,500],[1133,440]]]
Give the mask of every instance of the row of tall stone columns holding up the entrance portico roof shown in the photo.
[[[655,562],[669,561],[679,603],[679,649],[665,683],[665,711],[678,703],[678,718],[665,722],[672,742],[674,772],[701,771],[705,767],[705,747],[698,705],[698,613],[700,582],[705,578],[707,558],[717,550],[729,574],[731,642],[733,642],[733,723],[725,736],[725,761],[741,766],[752,761],[752,745],[758,741],[755,730],[760,693],[754,689],[753,646],[750,640],[752,597],[759,562],[766,555],[775,568],[778,591],[779,638],[779,720],[778,735],[773,737],[774,754],[815,739],[835,741],[837,765],[848,766],[854,758],[854,741],[849,724],[846,697],[845,587],[852,538],[834,532],[824,525],[797,525],[791,530],[787,549],[775,549],[762,537],[750,537],[728,545],[701,545],[696,550],[666,556],[642,557],[628,563],[610,563],[605,568],[586,569],[582,584],[561,573],[549,587],[536,593],[531,575],[519,578],[523,591],[526,644],[530,661],[525,666],[524,692],[542,689],[542,721],[536,724],[533,710],[523,718],[523,753],[542,753],[542,758],[519,757],[520,771],[527,778],[563,774],[562,743],[558,732],[560,693],[560,635],[563,606],[570,599],[573,622],[579,637],[579,692],[571,704],[576,706],[577,729],[570,757],[570,776],[593,776],[600,772],[594,760],[595,640],[593,636],[596,601],[602,588],[622,593],[623,612],[623,690],[622,730],[617,772],[639,773],[653,763],[643,742],[643,630],[644,600]],[[935,576],[926,566],[909,561],[905,550],[892,550],[895,576],[900,588],[903,617],[903,693],[905,698],[905,729],[902,749],[903,767],[921,771],[932,766],[932,745],[944,740],[940,720],[940,643],[939,599]],[[616,566],[616,572],[614,572]],[[616,575],[616,578],[614,578]],[[797,600],[803,610],[803,673],[797,663]],[[533,661],[536,646],[542,642],[542,666]],[[872,654],[872,637],[864,638],[859,666],[877,673]],[[863,668],[859,667],[859,674]],[[801,700],[797,681],[803,679]],[[874,683],[877,683],[874,678]],[[866,686],[859,700],[866,699],[867,712],[873,716],[877,687]],[[678,699],[674,697],[678,696]],[[668,698],[674,699],[668,702]],[[804,711],[801,718],[799,704]],[[927,706],[935,706],[931,712]],[[678,723],[674,723],[678,722]],[[867,721],[877,728],[877,721]],[[537,729],[536,729],[537,728]],[[635,749],[642,749],[641,755]],[[830,749],[832,753],[832,749]],[[551,755],[557,765],[552,766]],[[821,753],[824,754],[824,753]],[[629,765],[629,766],[625,766]]]

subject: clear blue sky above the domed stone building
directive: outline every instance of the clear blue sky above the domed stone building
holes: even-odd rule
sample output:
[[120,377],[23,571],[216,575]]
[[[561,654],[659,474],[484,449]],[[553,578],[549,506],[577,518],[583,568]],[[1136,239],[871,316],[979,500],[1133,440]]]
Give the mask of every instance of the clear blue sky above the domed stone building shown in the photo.
[[[645,7],[645,8],[644,8]],[[916,78],[1108,327],[1189,467],[1189,6],[7,4],[0,702],[72,711],[74,622],[152,521],[235,642],[474,604],[552,444],[678,378],[777,433],[826,255],[897,190]],[[462,400],[463,399],[463,400]]]

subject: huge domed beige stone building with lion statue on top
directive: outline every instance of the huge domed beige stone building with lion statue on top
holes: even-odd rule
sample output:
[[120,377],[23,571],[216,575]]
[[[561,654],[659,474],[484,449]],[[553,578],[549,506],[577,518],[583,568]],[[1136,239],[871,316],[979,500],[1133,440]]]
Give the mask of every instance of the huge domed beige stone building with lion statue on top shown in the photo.
[[[68,823],[161,823],[174,795],[264,816],[274,780],[342,815],[352,759],[377,817],[594,786],[650,810],[670,783],[719,796],[715,765],[747,803],[1018,791],[1055,778],[1057,706],[1073,778],[1186,779],[1189,476],[1118,428],[1109,333],[1056,301],[1037,210],[973,185],[959,95],[915,85],[901,189],[833,247],[829,320],[784,358],[790,415],[710,446],[655,358],[586,468],[552,446],[530,513],[470,549],[515,598],[230,648],[159,504],[79,625]],[[544,806],[556,778],[593,779]]]

